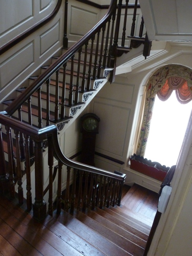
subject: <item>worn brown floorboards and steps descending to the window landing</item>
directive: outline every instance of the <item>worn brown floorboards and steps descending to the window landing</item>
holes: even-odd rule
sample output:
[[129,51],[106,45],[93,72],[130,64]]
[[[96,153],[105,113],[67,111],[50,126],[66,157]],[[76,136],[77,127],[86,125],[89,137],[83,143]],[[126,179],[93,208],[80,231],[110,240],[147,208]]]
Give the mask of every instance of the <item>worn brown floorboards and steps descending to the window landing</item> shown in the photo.
[[[76,210],[72,215],[66,211],[60,215],[54,212],[53,217],[47,216],[40,223],[14,206],[14,202],[1,197],[3,228],[0,236],[1,243],[6,242],[6,249],[1,246],[1,253],[5,256],[29,255],[30,250],[31,255],[46,256],[142,256],[158,196],[135,184],[123,196],[122,202],[121,207]],[[148,202],[153,203],[147,208]]]

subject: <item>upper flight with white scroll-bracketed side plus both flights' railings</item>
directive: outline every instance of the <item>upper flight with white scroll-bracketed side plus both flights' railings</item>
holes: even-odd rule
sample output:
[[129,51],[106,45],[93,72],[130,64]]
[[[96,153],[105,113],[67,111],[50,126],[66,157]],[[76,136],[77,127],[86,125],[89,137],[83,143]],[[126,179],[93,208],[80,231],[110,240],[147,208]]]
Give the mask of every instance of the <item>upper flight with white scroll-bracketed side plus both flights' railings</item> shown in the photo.
[[[125,4],[125,14],[127,8],[128,1]],[[83,175],[86,176],[87,194],[79,201],[83,201],[83,210],[90,206],[94,209],[95,206],[102,208],[103,205],[120,205],[125,175],[106,172],[68,159],[61,151],[59,139],[102,86],[108,80],[113,82],[117,56],[130,50],[130,47],[124,45],[125,26],[121,47],[118,46],[121,9],[122,1],[117,5],[117,1],[113,0],[105,17],[93,30],[75,45],[63,49],[57,56],[44,63],[40,70],[35,71],[32,77],[17,88],[16,93],[8,95],[7,100],[3,102],[5,108],[0,113],[1,191],[4,193],[8,189],[10,196],[15,197],[17,190],[19,204],[22,204],[22,185],[25,182],[27,211],[33,206],[35,218],[45,218],[47,210],[52,215],[53,201],[56,197],[57,213],[60,213],[63,188],[67,191],[65,207],[67,208],[68,204],[71,205],[71,209],[74,207],[75,187],[69,202],[69,186],[76,183],[77,170],[80,170],[81,186],[84,185],[81,179]],[[136,9],[137,1],[134,7],[132,34],[135,28]],[[124,25],[126,23],[127,15],[124,16]],[[142,34],[143,20],[139,35],[139,40],[143,41]],[[13,99],[15,95],[16,98]],[[45,156],[48,159],[46,162]],[[35,176],[33,196],[32,173]],[[62,173],[67,176],[64,185]],[[46,185],[44,176],[49,176]],[[94,187],[89,191],[88,176]],[[99,182],[102,186],[99,186],[97,191]]]

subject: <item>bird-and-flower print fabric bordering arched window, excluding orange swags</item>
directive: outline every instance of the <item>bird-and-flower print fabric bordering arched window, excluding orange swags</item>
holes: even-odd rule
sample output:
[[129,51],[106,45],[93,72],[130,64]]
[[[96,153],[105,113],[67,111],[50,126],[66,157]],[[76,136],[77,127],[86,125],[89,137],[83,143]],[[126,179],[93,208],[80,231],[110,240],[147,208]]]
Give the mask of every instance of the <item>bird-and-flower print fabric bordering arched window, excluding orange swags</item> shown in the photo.
[[153,115],[155,95],[164,86],[167,79],[177,77],[187,82],[189,90],[192,92],[192,69],[183,65],[168,64],[157,69],[146,84],[146,96],[144,103],[143,119],[136,148],[136,155],[144,156],[147,138],[150,129],[150,120]]

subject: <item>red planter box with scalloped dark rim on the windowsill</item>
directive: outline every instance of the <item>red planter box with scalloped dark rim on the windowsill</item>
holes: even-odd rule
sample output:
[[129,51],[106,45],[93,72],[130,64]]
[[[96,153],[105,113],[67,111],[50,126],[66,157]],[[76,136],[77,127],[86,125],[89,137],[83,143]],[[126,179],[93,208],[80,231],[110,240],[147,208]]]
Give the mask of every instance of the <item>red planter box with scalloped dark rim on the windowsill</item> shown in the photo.
[[133,154],[129,159],[131,163],[130,168],[132,170],[143,173],[159,181],[163,181],[169,170],[169,167],[166,167],[165,165],[161,165],[158,162],[151,162],[151,160],[136,154]]

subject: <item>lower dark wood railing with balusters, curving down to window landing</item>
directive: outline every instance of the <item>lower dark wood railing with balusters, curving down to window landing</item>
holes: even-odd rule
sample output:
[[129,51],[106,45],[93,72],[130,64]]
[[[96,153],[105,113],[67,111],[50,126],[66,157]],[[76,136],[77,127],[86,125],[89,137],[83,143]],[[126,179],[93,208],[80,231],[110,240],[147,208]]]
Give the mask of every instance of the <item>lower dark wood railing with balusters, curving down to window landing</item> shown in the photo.
[[[65,157],[61,152],[59,140],[57,138],[57,127],[49,125],[44,128],[33,127],[29,124],[24,124],[19,120],[15,120],[4,114],[0,114],[1,129],[7,132],[7,149],[6,152],[2,140],[2,132],[0,129],[0,181],[1,187],[6,190],[9,188],[10,196],[15,197],[15,182],[18,182],[18,199],[19,204],[23,203],[23,188],[22,188],[22,161],[25,161],[26,173],[26,188],[27,188],[27,211],[32,208],[31,198],[31,160],[35,163],[35,203],[33,204],[33,215],[37,219],[45,218],[46,203],[44,201],[43,188],[43,151],[44,142],[48,141],[48,165],[49,165],[49,205],[48,212],[53,214],[53,180],[56,172],[53,172],[53,157],[58,160],[58,188],[57,188],[57,213],[61,212],[61,172],[63,165],[67,166],[67,186],[65,193],[65,210],[73,212],[75,206],[75,185],[77,183],[77,172],[79,172],[79,193],[78,193],[78,209],[85,210],[86,208],[94,209],[96,206],[102,208],[109,207],[115,204],[120,205],[121,193],[125,180],[125,174],[119,175],[110,173],[102,169],[84,165],[79,162],[72,161]],[[15,133],[15,145],[13,144],[12,131]],[[19,133],[25,138],[25,159],[20,157]],[[34,141],[34,155],[30,154],[29,138]],[[5,169],[5,158],[8,156],[9,179]],[[15,162],[16,161],[16,162]],[[54,176],[54,177],[53,177]],[[72,191],[69,195],[69,181],[73,179]],[[85,179],[83,180],[83,178]],[[46,189],[48,191],[48,189]],[[83,194],[82,194],[83,193]]]

